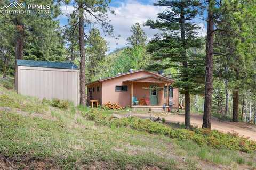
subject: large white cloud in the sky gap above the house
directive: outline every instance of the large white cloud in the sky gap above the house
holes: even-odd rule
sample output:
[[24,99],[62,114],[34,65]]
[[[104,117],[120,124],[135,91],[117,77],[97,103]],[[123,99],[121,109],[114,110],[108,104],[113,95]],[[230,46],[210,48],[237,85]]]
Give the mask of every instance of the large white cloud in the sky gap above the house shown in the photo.
[[[126,3],[120,3],[118,7],[111,7],[111,10],[115,11],[115,15],[109,15],[111,20],[110,24],[114,27],[115,35],[121,35],[119,40],[116,40],[110,36],[107,36],[107,41],[110,42],[110,50],[126,46],[126,39],[131,35],[131,27],[136,22],[144,24],[148,19],[156,19],[157,14],[163,11],[163,7],[156,7],[153,5],[141,4],[137,1],[128,1]],[[143,27],[148,39],[151,39],[157,30]],[[118,44],[117,44],[118,43]]]

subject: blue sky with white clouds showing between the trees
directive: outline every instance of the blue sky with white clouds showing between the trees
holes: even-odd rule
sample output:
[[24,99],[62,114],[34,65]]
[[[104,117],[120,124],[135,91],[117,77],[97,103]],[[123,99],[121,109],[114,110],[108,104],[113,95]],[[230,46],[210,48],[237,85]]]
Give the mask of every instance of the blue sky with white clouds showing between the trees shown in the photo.
[[[109,52],[112,52],[115,49],[122,48],[127,46],[127,37],[131,36],[131,27],[136,22],[142,25],[142,29],[145,31],[148,40],[152,39],[154,35],[158,32],[158,30],[150,29],[149,27],[144,27],[143,24],[148,19],[156,19],[157,14],[161,13],[164,8],[153,6],[153,3],[156,0],[112,0],[110,3],[110,10],[115,11],[114,14],[109,14],[110,24],[114,27],[114,35],[118,37],[118,39],[105,36],[102,32],[102,36],[109,43]],[[70,5],[63,5],[61,7],[63,15],[60,17],[60,25],[67,25],[68,18],[65,16],[74,10],[74,7]],[[205,23],[197,18],[195,22],[202,27],[202,29],[198,30],[200,36],[206,35],[206,27]]]

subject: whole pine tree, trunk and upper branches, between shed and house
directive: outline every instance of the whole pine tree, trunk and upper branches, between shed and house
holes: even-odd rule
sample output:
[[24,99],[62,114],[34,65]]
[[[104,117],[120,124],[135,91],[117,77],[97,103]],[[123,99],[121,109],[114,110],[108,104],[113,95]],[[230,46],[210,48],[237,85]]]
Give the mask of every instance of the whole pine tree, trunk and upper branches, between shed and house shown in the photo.
[[[109,11],[109,0],[102,1],[86,1],[76,0],[75,8],[78,10],[78,30],[79,30],[79,49],[80,49],[80,104],[86,105],[86,65],[85,65],[85,37],[87,35],[84,32],[85,24],[98,24],[106,33],[111,33],[113,27],[109,24],[108,11]],[[111,11],[113,12],[113,11]],[[89,17],[84,14],[90,15]],[[86,20],[85,20],[86,19]],[[94,20],[94,21],[92,21]],[[75,25],[75,29],[77,28]]]

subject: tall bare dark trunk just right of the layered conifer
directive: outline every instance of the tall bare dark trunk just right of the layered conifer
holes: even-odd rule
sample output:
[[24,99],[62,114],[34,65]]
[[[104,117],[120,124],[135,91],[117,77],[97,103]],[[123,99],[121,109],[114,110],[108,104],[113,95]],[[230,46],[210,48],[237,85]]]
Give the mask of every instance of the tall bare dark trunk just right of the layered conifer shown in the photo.
[[211,129],[212,89],[213,89],[213,7],[215,0],[209,0],[206,36],[206,58],[205,58],[205,93],[204,93],[204,116],[203,128]]

